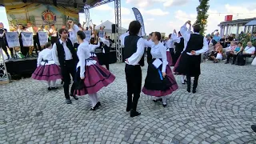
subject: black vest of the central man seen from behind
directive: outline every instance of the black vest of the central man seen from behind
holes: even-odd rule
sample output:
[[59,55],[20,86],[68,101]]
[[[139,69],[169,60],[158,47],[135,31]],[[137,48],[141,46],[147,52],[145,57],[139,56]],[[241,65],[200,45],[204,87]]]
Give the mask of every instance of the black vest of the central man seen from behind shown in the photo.
[[[138,39],[141,37],[138,37],[137,35],[128,35],[125,38],[125,48],[124,48],[124,58],[130,58],[130,56],[137,51],[137,42]],[[142,59],[138,62],[140,66],[144,66],[144,54],[142,56]]]

